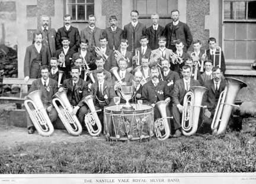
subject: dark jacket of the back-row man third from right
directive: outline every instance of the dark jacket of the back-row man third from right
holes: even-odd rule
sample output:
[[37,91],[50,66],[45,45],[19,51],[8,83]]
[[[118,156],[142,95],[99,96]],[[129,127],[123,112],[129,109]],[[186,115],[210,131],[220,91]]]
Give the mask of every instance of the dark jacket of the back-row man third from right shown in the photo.
[[[133,32],[135,32],[134,38],[133,38]],[[146,26],[140,22],[137,23],[135,27],[135,31],[133,31],[132,23],[124,25],[124,32],[123,32],[123,38],[128,40],[128,51],[135,51],[135,48],[140,46],[140,37],[142,35],[146,35]],[[135,42],[133,43],[133,39]]]

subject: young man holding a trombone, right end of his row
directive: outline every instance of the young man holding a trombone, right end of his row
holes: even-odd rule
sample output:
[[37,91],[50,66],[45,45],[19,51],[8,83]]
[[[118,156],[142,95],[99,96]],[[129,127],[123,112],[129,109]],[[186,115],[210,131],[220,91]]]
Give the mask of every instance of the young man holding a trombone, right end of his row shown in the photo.
[[[226,64],[225,64],[223,51],[221,51],[221,54],[220,54],[220,50],[217,47],[216,39],[213,37],[209,38],[208,45],[209,45],[209,49],[206,51],[208,60],[213,61],[213,67],[216,67],[216,66],[220,67],[220,70],[224,75],[226,71]],[[220,65],[219,65],[219,61],[220,61]]]

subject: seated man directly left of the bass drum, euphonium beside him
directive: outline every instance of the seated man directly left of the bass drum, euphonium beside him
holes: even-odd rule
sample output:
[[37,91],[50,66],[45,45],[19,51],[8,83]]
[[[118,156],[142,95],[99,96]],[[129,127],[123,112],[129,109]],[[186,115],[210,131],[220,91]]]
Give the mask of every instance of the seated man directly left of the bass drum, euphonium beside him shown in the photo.
[[90,88],[90,94],[95,97],[95,109],[101,109],[101,111],[97,114],[101,121],[101,125],[103,126],[104,107],[108,105],[114,105],[113,98],[114,96],[116,96],[112,83],[105,80],[105,70],[103,70],[102,68],[97,70],[97,82],[93,83]]

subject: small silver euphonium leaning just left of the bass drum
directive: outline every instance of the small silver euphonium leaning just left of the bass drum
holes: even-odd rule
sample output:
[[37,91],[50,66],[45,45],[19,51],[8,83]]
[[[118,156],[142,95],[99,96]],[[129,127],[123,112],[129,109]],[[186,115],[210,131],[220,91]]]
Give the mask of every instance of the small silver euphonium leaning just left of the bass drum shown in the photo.
[[91,113],[85,114],[85,125],[87,126],[88,132],[91,136],[98,136],[98,134],[101,133],[102,126],[101,121],[98,118],[97,111],[101,110],[95,110],[93,98],[94,96],[89,95],[84,99],[84,102],[91,110]]

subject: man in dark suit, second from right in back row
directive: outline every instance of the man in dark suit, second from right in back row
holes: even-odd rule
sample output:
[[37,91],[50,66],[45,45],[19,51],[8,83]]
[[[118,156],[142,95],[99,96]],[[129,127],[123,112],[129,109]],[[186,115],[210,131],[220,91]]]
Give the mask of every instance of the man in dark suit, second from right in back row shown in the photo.
[[151,15],[152,25],[151,27],[146,28],[146,35],[149,40],[149,47],[151,50],[155,50],[158,48],[158,38],[161,36],[164,31],[164,27],[158,24],[159,15],[153,14]]

